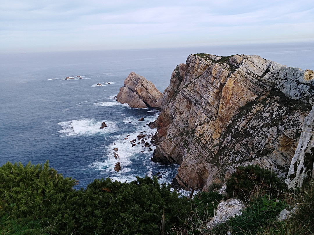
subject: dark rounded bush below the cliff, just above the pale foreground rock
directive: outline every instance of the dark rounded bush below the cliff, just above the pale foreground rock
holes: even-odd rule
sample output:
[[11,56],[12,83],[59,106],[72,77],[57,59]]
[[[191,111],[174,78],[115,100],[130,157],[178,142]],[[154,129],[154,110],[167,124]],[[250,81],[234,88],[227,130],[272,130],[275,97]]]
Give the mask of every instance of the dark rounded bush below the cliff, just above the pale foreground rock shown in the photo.
[[286,189],[282,178],[273,171],[263,169],[257,165],[237,167],[236,172],[226,182],[226,193],[229,197],[248,198],[256,190],[270,195],[272,198],[281,196]]

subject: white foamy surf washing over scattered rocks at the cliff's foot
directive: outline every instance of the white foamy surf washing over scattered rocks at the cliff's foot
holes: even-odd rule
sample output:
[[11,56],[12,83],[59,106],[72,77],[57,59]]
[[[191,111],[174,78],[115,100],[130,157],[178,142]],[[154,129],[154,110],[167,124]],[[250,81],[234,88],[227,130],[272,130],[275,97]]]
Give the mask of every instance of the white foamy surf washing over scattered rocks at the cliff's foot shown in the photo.
[[[133,132],[125,132],[119,135],[111,136],[112,142],[105,147],[103,157],[100,158],[98,161],[92,163],[90,167],[94,168],[97,171],[100,171],[100,174],[105,174],[111,179],[121,182],[132,181],[136,179],[135,176],[138,175],[143,177],[145,175],[145,170],[139,172],[139,169],[148,169],[148,172],[146,174],[149,175],[149,169],[152,168],[152,165],[150,163],[151,157],[153,150],[156,148],[156,146],[151,145],[149,147],[145,147],[144,143],[148,142],[149,144],[151,144],[150,140],[151,137],[155,134],[156,129],[150,129],[147,124],[151,121],[154,121],[157,118],[157,115],[152,115],[144,118],[144,122],[138,122],[138,117],[124,118],[123,123],[133,125]],[[142,139],[139,140],[137,138],[140,132],[142,132],[142,134],[146,134],[146,136],[143,138],[144,143],[142,143]],[[136,139],[136,141],[133,142],[135,143],[135,145],[130,142],[133,139]],[[121,171],[119,172],[116,172],[114,170],[117,162],[120,162],[121,165]],[[155,164],[155,166],[157,166],[159,163],[153,162],[152,164]],[[150,175],[157,172],[157,170],[154,171],[155,172],[151,172]],[[171,171],[169,170],[169,172]],[[163,183],[167,179],[168,177],[160,179],[161,183]]]

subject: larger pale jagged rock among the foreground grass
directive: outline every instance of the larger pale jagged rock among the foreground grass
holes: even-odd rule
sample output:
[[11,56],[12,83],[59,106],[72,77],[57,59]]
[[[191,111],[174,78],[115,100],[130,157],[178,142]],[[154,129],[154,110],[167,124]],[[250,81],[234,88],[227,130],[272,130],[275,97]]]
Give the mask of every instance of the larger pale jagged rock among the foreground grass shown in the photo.
[[210,222],[206,224],[209,229],[217,226],[220,223],[227,221],[235,215],[241,215],[242,209],[245,208],[245,204],[237,198],[231,198],[228,200],[221,200],[217,206],[215,216]]

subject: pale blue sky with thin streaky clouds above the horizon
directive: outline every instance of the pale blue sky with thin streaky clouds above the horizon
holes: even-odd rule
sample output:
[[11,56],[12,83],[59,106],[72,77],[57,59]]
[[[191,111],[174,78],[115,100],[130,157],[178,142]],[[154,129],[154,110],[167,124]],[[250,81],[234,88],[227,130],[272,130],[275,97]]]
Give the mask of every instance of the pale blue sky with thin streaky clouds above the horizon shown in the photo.
[[313,41],[313,0],[1,0],[0,53]]

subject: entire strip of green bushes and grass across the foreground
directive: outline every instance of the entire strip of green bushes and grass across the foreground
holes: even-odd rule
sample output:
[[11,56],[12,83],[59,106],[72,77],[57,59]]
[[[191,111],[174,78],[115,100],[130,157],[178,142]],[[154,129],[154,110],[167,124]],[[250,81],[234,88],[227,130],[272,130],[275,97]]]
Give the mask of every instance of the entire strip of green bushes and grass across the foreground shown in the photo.
[[[274,172],[238,167],[227,181],[229,197],[245,199],[242,214],[214,229],[206,223],[227,199],[213,184],[193,199],[180,197],[157,178],[131,183],[96,179],[86,189],[45,164],[0,167],[0,234],[314,234],[314,183],[289,191]],[[283,209],[294,213],[276,222]]]

